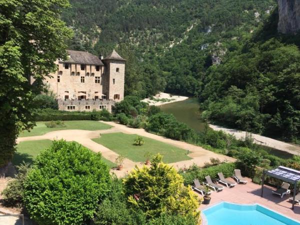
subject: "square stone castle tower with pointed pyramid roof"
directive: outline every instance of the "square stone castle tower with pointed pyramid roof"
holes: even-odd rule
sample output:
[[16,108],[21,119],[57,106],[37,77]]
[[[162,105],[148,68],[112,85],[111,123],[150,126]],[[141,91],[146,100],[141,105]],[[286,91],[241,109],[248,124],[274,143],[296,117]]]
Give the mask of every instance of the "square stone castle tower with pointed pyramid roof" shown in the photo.
[[105,86],[103,92],[106,99],[121,101],[124,98],[125,59],[113,51],[102,59],[105,65]]

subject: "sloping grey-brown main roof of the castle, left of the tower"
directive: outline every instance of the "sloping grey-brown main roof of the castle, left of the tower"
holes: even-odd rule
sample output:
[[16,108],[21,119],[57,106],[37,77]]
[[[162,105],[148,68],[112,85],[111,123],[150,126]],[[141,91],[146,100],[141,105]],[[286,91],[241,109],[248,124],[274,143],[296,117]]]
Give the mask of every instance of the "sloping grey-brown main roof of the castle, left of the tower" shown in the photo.
[[63,62],[89,64],[89,65],[104,65],[101,59],[87,51],[66,50],[69,57]]

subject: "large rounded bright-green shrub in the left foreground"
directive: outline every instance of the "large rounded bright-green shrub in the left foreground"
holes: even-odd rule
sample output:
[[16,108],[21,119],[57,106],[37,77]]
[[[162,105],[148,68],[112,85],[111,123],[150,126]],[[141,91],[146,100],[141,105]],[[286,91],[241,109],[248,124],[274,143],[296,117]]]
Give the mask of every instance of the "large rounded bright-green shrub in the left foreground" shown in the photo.
[[24,182],[24,205],[38,224],[78,224],[91,219],[110,190],[107,165],[82,145],[53,141]]

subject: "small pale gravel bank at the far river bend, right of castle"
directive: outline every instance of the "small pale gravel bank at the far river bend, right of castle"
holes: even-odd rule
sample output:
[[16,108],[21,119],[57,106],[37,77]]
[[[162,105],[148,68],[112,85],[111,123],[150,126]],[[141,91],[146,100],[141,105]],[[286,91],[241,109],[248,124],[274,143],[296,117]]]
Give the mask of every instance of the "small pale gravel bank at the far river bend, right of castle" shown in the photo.
[[147,102],[149,105],[163,105],[167,103],[172,103],[176,101],[183,101],[186,100],[188,97],[179,96],[179,95],[172,95],[169,93],[159,92],[158,94],[154,95],[152,98],[145,98],[141,101]]

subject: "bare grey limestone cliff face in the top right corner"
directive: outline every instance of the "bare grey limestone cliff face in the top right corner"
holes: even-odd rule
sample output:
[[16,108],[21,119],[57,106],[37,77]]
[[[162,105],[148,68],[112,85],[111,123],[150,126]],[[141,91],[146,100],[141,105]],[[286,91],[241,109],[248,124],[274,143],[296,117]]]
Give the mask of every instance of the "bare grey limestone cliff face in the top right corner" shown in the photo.
[[300,0],[278,0],[278,32],[295,33],[300,30]]

